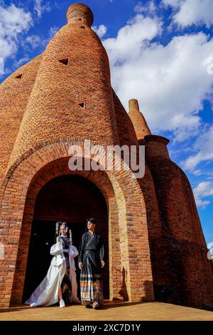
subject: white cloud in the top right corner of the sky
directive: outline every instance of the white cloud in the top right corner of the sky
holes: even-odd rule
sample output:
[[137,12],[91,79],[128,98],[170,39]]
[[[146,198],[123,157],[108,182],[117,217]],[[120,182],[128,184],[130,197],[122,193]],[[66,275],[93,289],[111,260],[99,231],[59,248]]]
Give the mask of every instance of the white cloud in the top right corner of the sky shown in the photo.
[[193,24],[207,27],[213,24],[212,0],[163,0],[163,4],[175,9],[173,23],[183,28]]

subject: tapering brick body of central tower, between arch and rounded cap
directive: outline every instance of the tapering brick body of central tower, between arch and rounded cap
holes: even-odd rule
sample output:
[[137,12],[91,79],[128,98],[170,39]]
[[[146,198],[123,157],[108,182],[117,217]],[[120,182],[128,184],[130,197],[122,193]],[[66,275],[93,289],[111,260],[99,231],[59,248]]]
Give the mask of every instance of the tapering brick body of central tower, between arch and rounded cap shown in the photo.
[[[66,57],[68,66],[59,61]],[[70,136],[119,144],[108,56],[82,21],[62,27],[48,44],[10,164],[40,143]]]

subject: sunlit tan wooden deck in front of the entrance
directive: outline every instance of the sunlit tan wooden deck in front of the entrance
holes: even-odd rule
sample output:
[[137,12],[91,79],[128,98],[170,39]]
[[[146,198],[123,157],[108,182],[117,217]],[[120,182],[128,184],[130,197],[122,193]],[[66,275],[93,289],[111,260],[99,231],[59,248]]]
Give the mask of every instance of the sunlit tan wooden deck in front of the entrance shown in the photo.
[[60,309],[58,305],[50,307],[30,307],[27,305],[0,309],[1,321],[213,321],[213,312],[194,309],[162,302],[124,303],[106,301],[99,310],[86,309],[72,304]]

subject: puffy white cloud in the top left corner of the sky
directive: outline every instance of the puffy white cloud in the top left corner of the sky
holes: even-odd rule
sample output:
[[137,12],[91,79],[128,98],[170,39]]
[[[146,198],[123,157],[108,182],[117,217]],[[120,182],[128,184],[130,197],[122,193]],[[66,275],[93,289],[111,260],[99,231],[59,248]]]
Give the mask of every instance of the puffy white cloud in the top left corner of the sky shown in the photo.
[[14,56],[18,49],[18,36],[33,25],[31,14],[14,4],[0,6],[0,56]]

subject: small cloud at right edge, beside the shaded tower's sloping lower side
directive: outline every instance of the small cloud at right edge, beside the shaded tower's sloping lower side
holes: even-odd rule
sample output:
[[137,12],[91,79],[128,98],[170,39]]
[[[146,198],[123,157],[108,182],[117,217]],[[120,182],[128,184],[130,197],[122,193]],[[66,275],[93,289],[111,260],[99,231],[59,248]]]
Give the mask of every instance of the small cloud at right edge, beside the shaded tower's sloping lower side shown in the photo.
[[209,205],[209,200],[203,200],[203,198],[209,197],[213,195],[213,182],[200,182],[193,189],[195,195],[195,201],[198,207],[206,207]]

